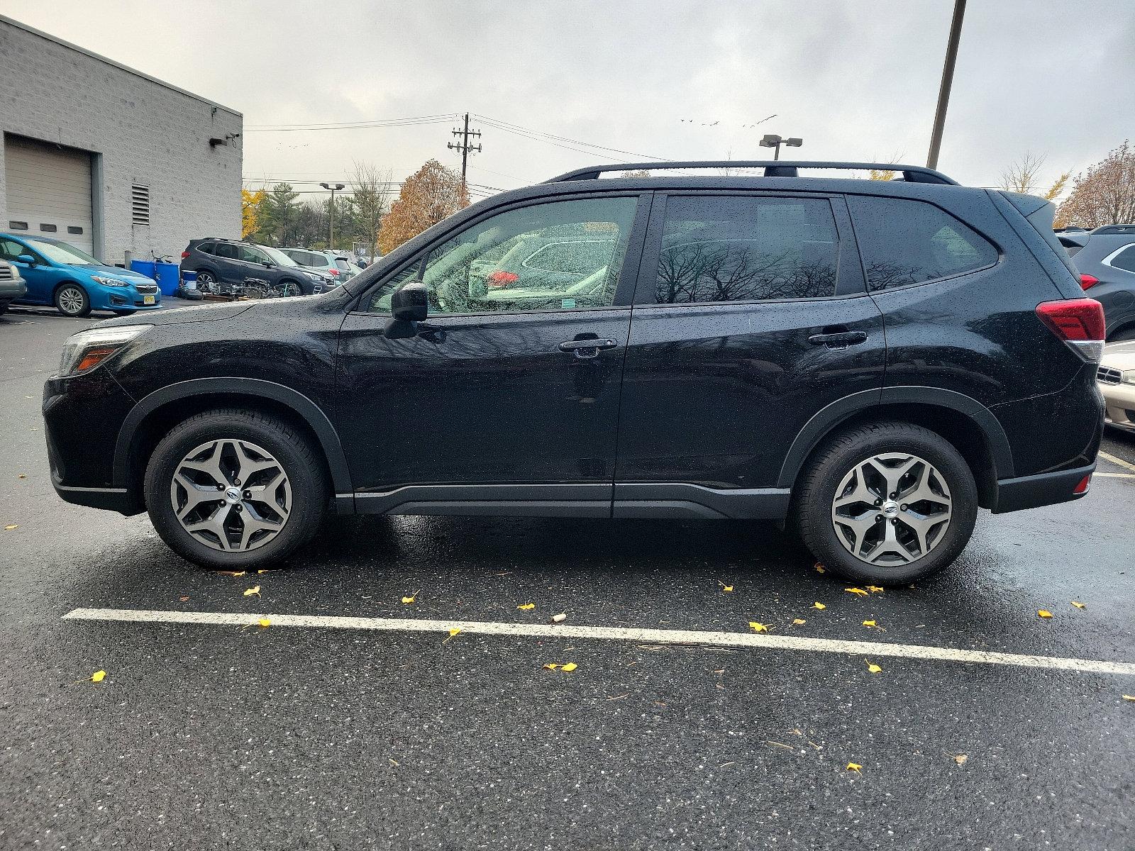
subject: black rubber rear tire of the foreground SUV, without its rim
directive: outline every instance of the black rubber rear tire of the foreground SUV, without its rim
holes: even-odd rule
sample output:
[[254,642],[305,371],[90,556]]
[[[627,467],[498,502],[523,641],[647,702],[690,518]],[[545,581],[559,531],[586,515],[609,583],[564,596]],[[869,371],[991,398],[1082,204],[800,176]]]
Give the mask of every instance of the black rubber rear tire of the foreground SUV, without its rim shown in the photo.
[[[841,541],[833,524],[833,504],[844,477],[867,460],[889,453],[915,455],[933,465],[949,489],[951,514],[949,525],[925,555],[902,565],[874,565]],[[906,422],[859,426],[833,437],[808,461],[793,491],[793,520],[805,545],[825,566],[855,582],[900,585],[938,573],[961,554],[977,519],[977,486],[965,458],[930,429]]]

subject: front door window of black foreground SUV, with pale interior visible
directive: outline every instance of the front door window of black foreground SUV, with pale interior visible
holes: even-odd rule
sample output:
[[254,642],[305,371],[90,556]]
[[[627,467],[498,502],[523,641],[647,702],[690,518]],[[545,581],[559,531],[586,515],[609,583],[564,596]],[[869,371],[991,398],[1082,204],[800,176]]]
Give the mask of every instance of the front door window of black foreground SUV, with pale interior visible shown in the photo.
[[371,298],[372,312],[409,280],[429,289],[430,313],[589,310],[614,303],[637,199],[555,201],[508,210],[434,248]]

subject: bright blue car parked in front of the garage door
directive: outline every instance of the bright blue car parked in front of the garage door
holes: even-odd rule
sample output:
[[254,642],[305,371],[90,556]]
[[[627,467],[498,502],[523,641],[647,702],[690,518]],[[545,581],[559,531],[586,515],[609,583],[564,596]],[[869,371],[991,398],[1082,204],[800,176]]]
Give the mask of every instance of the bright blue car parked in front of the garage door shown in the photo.
[[0,234],[0,260],[19,269],[27,281],[27,295],[14,304],[53,304],[65,317],[85,317],[92,310],[125,317],[161,303],[152,278],[103,266],[59,239]]

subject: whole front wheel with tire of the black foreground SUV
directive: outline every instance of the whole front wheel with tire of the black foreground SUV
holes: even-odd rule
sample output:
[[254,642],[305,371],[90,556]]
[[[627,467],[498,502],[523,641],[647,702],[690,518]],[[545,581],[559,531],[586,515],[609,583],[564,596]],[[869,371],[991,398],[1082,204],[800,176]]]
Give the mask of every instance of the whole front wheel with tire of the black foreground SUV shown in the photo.
[[146,467],[158,534],[207,567],[285,558],[318,531],[327,502],[323,465],[308,439],[259,412],[197,414],[158,444]]

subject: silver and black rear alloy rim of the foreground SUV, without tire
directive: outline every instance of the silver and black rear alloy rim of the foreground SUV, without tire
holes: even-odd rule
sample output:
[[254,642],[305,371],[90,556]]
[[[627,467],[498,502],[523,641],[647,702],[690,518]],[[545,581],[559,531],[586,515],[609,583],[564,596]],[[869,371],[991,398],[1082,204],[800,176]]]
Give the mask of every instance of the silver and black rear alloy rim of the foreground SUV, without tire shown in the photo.
[[854,466],[832,500],[835,537],[860,562],[907,565],[945,538],[953,503],[942,474],[928,461],[884,453]]

